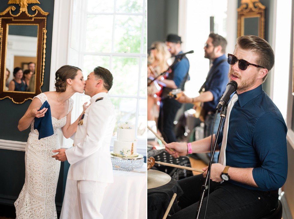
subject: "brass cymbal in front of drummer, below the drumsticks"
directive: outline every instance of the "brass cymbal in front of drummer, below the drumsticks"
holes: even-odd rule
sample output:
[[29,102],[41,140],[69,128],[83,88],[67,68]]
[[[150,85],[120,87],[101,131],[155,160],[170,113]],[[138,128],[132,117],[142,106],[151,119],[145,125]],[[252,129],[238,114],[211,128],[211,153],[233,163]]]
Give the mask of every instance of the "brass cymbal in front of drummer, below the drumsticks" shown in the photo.
[[158,170],[147,171],[147,189],[156,188],[170,182],[171,177],[169,174]]

